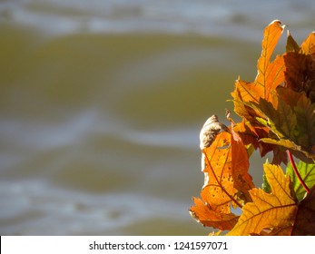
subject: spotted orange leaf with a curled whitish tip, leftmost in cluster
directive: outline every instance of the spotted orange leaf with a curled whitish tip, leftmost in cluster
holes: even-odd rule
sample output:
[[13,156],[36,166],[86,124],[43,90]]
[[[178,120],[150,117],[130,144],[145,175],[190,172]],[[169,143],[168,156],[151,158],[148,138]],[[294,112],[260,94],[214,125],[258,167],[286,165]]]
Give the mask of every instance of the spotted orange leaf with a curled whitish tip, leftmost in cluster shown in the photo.
[[[202,127],[202,171],[204,172],[202,200],[194,198],[195,206],[191,207],[190,212],[192,218],[204,226],[231,230],[238,219],[238,216],[231,212],[231,206],[241,207],[243,202],[250,201],[248,190],[254,185],[248,173],[249,156],[241,138],[217,119],[214,122],[216,123],[214,127],[220,124],[221,130],[226,132],[210,135],[211,142],[207,147],[205,144],[208,142],[204,142],[207,139],[204,139],[203,133],[205,127]],[[212,127],[208,126],[209,121],[206,123],[206,127]],[[219,130],[219,127],[215,130],[217,129]]]

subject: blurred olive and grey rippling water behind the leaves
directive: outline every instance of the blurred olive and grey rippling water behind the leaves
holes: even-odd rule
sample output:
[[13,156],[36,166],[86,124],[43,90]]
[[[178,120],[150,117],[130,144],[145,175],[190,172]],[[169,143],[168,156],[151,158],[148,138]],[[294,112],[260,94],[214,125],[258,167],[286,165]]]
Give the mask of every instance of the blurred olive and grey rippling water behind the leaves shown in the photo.
[[254,79],[267,24],[300,43],[314,14],[311,0],[0,1],[1,235],[211,232],[188,213],[202,124]]

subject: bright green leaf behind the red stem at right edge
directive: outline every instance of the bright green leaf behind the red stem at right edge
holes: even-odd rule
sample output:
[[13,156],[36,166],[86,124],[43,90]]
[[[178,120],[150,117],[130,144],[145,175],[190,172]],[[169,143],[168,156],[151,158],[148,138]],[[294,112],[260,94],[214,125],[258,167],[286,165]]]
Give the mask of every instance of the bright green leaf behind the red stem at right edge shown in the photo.
[[[308,164],[304,161],[300,161],[297,165],[298,171],[300,172],[301,179],[305,184],[311,188],[315,185],[315,164]],[[298,200],[303,200],[305,197],[306,190],[300,184],[300,181],[293,171],[292,164],[290,163],[287,167],[287,174],[290,175],[290,179],[293,182],[293,188],[296,193]]]

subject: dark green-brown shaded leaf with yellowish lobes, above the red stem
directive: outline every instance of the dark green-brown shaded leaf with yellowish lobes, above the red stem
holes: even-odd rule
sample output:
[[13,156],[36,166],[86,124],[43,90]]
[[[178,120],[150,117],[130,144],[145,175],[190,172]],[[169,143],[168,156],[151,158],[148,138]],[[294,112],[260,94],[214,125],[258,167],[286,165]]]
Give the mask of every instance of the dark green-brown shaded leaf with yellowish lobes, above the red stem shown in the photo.
[[257,122],[268,127],[276,135],[263,138],[261,142],[301,151],[306,157],[313,158],[315,103],[310,103],[305,93],[298,94],[283,88],[277,91],[279,94],[277,108],[262,98],[260,103],[250,103],[262,116],[256,117]]

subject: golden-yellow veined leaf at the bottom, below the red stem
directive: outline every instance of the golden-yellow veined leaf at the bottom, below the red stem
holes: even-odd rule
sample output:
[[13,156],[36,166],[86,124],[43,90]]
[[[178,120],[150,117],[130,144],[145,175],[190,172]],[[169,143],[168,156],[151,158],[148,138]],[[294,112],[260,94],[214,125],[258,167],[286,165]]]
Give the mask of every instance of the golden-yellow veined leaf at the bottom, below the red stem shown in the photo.
[[280,166],[272,164],[264,164],[264,171],[271,193],[250,190],[252,202],[243,206],[238,223],[228,235],[261,234],[262,230],[292,226],[297,204],[290,194],[290,177],[284,175]]

